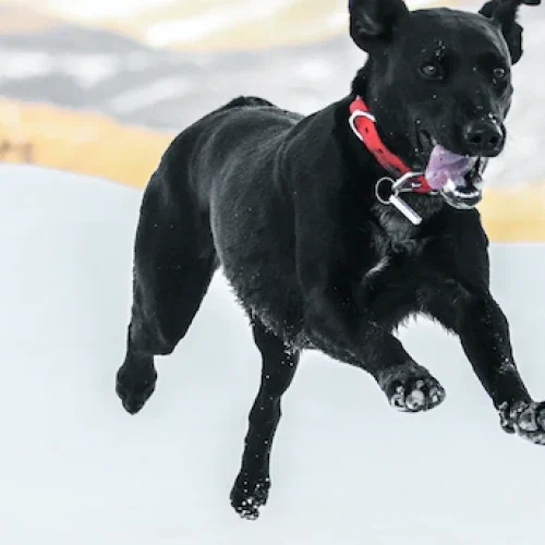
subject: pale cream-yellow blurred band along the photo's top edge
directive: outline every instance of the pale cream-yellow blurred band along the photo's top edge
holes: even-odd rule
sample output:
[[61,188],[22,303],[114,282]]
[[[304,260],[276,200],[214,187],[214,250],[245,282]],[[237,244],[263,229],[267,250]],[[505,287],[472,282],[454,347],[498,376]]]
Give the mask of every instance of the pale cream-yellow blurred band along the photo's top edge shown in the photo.
[[[467,1],[408,0],[412,9],[462,3]],[[0,31],[22,31],[25,24],[32,31],[32,25],[65,21],[108,28],[170,49],[259,49],[346,33],[348,0],[117,0],[111,4],[96,0],[0,0]]]

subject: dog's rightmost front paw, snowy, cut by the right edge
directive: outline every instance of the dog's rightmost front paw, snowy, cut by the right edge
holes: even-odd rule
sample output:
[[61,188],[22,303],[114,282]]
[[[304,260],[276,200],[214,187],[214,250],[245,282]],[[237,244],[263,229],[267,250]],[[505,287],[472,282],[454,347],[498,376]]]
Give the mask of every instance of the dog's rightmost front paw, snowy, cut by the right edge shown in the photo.
[[505,402],[498,412],[505,432],[520,435],[535,445],[545,445],[545,402]]

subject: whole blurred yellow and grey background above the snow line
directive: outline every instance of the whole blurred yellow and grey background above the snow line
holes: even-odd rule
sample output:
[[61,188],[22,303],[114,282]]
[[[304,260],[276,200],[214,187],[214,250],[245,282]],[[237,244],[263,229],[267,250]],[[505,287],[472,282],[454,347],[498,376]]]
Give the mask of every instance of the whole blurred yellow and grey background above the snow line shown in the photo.
[[[365,60],[348,36],[347,4],[0,0],[0,161],[142,189],[178,132],[237,95],[311,113],[344,96]],[[494,241],[545,240],[545,9],[521,11],[509,141],[481,205]]]

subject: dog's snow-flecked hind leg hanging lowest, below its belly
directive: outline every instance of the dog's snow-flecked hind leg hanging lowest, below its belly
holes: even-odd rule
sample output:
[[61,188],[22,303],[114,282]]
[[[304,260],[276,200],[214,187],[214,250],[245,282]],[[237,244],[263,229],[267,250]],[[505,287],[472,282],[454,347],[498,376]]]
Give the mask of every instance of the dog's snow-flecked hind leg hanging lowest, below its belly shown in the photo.
[[253,332],[263,359],[262,379],[250,412],[242,467],[231,491],[231,505],[245,519],[256,519],[259,507],[267,502],[270,450],[280,421],[281,397],[293,379],[300,356],[261,322],[254,323]]

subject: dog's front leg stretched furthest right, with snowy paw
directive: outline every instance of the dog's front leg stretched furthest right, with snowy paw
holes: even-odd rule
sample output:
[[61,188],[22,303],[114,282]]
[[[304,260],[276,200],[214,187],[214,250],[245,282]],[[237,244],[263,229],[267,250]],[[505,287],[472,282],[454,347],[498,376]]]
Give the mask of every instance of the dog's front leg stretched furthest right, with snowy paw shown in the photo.
[[532,401],[514,364],[509,324],[492,295],[473,295],[457,327],[479,379],[508,433],[545,444],[545,403]]

